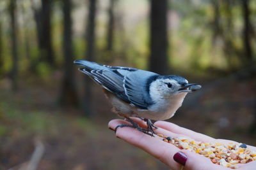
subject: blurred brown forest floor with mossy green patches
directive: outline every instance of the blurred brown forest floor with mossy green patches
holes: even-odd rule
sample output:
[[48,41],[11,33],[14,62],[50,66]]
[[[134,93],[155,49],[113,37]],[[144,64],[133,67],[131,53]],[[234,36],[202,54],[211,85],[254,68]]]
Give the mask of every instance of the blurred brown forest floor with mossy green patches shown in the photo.
[[[26,80],[16,94],[8,80],[0,85],[0,169],[26,166],[38,141],[44,146],[38,169],[168,169],[109,131],[108,122],[116,115],[99,87],[94,90],[95,115],[84,118],[78,109],[58,106],[58,83]],[[214,138],[256,145],[249,132],[256,114],[255,87],[253,78],[205,83],[170,121]]]

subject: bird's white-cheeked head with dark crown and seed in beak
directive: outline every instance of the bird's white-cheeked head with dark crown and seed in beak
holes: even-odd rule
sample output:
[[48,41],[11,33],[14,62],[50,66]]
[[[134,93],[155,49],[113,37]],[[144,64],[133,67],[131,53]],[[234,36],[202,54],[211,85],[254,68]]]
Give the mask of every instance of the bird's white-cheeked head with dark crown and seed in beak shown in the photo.
[[188,83],[185,78],[175,75],[159,76],[149,86],[150,96],[153,98],[169,98],[178,94],[187,94],[200,88],[201,85]]

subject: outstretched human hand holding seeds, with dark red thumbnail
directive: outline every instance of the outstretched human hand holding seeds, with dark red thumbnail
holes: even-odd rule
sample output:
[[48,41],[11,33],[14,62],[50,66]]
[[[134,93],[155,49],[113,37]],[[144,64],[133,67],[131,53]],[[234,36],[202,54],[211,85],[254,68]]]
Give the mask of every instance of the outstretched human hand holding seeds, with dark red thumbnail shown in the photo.
[[[134,122],[137,122],[141,127],[147,127],[145,122],[140,118],[132,118]],[[109,129],[115,129],[117,125],[129,124],[125,120],[111,120],[109,122]],[[156,133],[163,134],[170,137],[188,137],[195,141],[202,141],[207,143],[237,143],[236,141],[230,141],[225,139],[214,139],[204,134],[191,131],[189,129],[179,127],[178,125],[170,122],[158,121],[154,125],[158,128],[154,130]],[[171,169],[187,169],[187,170],[213,170],[213,169],[230,169],[218,164],[213,164],[210,159],[199,155],[197,153],[190,152],[188,150],[180,150],[170,143],[163,141],[163,138],[156,138],[148,136],[143,132],[137,131],[131,127],[122,127],[116,129],[116,137],[121,138],[128,143],[131,143],[150,155],[153,155],[157,159],[161,160],[164,164],[168,165]],[[247,145],[248,146],[248,145]],[[255,146],[248,146],[252,150],[256,150]],[[183,167],[184,166],[184,167]],[[247,164],[236,164],[239,170],[255,169],[256,161],[249,162]]]

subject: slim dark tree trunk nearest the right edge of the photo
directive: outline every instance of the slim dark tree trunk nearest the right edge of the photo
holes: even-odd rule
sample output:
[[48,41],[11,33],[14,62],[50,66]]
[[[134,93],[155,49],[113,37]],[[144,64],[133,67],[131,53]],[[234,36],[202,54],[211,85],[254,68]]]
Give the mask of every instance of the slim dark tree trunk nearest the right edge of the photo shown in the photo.
[[246,64],[250,64],[253,60],[252,57],[252,45],[250,42],[250,8],[249,8],[249,0],[241,0],[242,1],[242,10],[243,10],[243,20],[244,20],[244,28],[243,28],[243,41],[244,41],[244,55],[247,59]]

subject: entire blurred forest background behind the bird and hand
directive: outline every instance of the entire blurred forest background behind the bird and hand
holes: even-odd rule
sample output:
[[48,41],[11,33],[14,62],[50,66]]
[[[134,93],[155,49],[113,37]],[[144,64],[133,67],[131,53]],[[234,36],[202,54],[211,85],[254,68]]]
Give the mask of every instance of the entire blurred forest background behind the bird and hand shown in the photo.
[[168,169],[108,130],[75,59],[200,83],[170,121],[256,145],[256,1],[1,0],[0,14],[0,169]]

